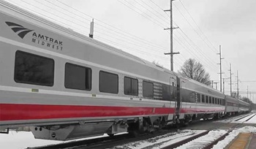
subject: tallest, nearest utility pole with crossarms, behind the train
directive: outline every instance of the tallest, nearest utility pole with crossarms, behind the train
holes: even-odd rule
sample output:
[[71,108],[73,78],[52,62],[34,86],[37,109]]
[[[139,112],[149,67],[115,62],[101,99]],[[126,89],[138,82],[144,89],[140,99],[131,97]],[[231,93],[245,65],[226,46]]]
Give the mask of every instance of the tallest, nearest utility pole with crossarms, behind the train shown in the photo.
[[170,71],[173,71],[173,55],[179,53],[173,53],[173,0],[170,0],[170,9],[164,10],[165,12],[170,12],[170,28],[164,28],[164,30],[170,29],[170,53],[165,53],[165,55],[170,55]]

